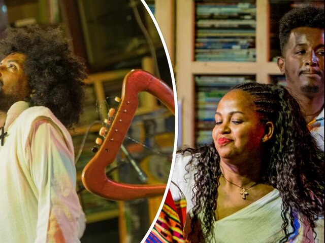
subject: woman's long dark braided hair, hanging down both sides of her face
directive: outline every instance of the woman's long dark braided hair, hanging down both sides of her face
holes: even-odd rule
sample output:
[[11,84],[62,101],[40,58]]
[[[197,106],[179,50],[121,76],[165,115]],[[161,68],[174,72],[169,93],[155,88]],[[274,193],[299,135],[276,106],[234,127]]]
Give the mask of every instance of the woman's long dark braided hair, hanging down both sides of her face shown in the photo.
[[[274,124],[273,138],[264,150],[260,182],[278,189],[282,198],[284,237],[280,242],[287,241],[294,233],[288,226],[294,228],[295,214],[303,216],[315,234],[315,221],[324,215],[324,153],[308,131],[299,104],[285,88],[276,85],[250,82],[235,86],[233,90],[242,90],[252,97],[261,123],[272,121]],[[220,156],[214,143],[178,152],[191,154],[186,170],[196,171],[189,235],[199,232],[201,239],[213,237]],[[199,217],[201,214],[203,217]]]

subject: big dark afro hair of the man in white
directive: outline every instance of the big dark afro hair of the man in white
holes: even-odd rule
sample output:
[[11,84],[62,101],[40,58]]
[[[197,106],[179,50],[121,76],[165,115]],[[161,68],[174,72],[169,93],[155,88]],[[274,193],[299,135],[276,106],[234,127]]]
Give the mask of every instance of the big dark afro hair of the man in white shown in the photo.
[[87,77],[84,62],[76,57],[59,27],[8,28],[0,40],[0,53],[26,56],[24,73],[32,90],[30,106],[46,106],[71,128],[77,123],[84,102]]

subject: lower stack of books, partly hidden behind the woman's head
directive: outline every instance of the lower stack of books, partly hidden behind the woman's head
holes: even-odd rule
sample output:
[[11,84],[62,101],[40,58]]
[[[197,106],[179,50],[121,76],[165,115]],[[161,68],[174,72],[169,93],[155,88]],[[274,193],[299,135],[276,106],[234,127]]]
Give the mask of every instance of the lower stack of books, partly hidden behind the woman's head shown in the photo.
[[255,76],[197,75],[196,85],[196,145],[212,142],[215,112],[219,101],[233,86],[254,82]]

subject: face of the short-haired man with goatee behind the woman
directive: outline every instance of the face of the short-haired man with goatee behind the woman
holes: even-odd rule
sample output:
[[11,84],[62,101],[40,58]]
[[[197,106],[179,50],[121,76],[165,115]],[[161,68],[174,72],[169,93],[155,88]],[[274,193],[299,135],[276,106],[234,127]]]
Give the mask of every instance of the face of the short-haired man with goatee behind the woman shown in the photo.
[[324,30],[291,30],[278,66],[294,95],[313,98],[324,94]]

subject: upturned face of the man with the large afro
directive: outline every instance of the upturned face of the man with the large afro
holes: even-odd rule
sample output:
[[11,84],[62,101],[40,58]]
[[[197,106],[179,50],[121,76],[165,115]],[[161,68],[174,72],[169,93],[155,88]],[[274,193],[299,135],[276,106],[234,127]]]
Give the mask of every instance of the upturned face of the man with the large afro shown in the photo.
[[23,70],[26,56],[12,53],[0,62],[0,110],[8,111],[15,102],[30,94]]

